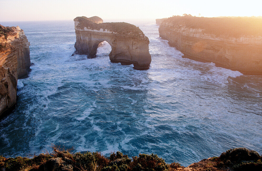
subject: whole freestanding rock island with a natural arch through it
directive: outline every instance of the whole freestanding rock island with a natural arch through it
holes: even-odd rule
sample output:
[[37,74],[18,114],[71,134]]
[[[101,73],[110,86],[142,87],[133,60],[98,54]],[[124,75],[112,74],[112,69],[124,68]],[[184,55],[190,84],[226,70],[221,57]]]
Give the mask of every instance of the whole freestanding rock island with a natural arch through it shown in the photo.
[[134,64],[137,70],[149,69],[149,39],[138,27],[125,22],[96,24],[86,17],[77,17],[74,22],[77,54],[95,58],[99,43],[107,41],[112,48],[109,54],[111,62]]

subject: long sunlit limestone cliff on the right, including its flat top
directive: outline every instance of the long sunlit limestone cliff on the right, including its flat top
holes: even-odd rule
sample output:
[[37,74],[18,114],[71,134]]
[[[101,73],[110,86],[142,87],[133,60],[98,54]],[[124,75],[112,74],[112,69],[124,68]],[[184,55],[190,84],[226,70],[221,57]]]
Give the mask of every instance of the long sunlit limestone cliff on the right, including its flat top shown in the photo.
[[159,36],[185,58],[262,75],[261,19],[173,16],[160,24]]

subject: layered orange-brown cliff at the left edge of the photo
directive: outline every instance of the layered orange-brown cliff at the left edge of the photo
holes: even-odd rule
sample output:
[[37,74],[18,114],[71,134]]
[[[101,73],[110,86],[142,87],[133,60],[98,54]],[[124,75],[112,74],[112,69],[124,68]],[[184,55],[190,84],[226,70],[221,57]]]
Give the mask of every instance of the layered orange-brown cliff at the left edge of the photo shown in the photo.
[[17,79],[28,77],[30,70],[29,45],[19,27],[0,25],[0,115],[14,107],[17,98]]

